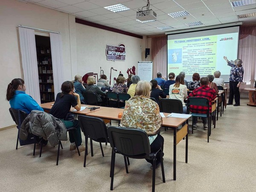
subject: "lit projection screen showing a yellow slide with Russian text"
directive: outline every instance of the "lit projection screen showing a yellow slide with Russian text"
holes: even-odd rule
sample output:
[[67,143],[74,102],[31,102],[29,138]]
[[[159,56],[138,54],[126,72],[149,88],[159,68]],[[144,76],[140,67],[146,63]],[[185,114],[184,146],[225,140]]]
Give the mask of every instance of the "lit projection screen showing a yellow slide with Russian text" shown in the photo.
[[236,60],[238,41],[239,27],[168,35],[167,72],[177,76],[184,71],[185,79],[192,81],[193,73],[204,77],[218,70],[221,78],[229,82],[231,67],[223,56]]

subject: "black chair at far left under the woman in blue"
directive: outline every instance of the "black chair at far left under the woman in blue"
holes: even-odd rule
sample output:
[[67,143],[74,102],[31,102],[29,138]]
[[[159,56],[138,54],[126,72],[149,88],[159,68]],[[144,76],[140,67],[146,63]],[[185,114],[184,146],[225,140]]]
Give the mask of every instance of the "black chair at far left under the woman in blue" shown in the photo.
[[[17,129],[18,129],[17,142],[16,142],[16,150],[17,150],[18,143],[19,143],[20,125],[22,124],[23,120],[26,118],[27,113],[14,108],[9,108],[9,112],[11,113],[12,119],[16,123]],[[25,141],[20,140],[20,146],[34,144],[33,155],[35,155],[35,144],[38,143],[38,140],[39,140],[38,136],[35,136],[34,134],[28,134],[27,140]]]

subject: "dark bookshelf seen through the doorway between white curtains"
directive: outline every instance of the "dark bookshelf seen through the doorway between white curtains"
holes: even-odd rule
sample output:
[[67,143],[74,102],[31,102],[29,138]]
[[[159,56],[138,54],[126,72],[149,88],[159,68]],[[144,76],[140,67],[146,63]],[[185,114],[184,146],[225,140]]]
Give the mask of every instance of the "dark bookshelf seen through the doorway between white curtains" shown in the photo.
[[55,101],[50,38],[35,35],[41,103]]

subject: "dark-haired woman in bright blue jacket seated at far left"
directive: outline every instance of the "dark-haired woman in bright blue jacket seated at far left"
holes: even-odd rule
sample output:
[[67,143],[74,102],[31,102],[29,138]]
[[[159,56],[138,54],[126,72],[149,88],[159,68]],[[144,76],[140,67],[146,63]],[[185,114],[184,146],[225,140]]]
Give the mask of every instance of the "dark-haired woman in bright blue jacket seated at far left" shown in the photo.
[[13,79],[8,84],[6,100],[9,101],[11,108],[22,110],[27,114],[32,110],[44,111],[25,91],[26,85],[23,79]]

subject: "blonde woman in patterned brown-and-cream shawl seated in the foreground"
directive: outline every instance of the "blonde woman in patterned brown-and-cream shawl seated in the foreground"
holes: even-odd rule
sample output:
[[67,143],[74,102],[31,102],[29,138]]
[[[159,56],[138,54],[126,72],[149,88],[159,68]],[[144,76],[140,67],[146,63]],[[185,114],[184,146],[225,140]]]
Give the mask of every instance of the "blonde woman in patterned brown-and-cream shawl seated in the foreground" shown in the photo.
[[[137,128],[146,131],[151,152],[163,150],[164,139],[160,134],[162,117],[156,102],[149,99],[151,83],[139,81],[135,89],[135,96],[126,102],[120,127]],[[147,160],[153,163],[153,160]],[[157,154],[156,167],[160,166],[160,154]]]

